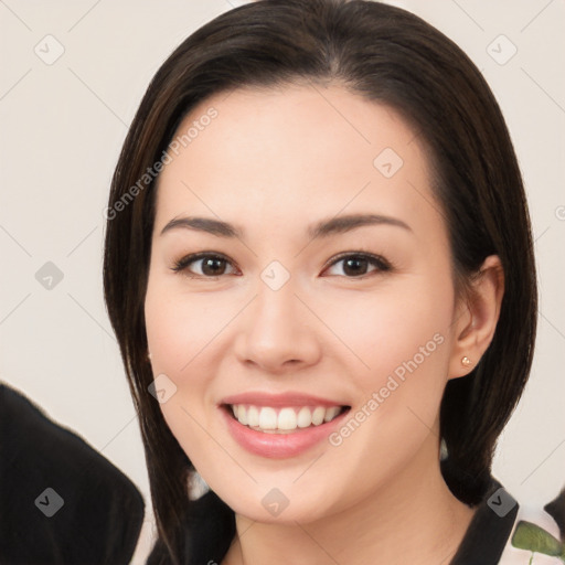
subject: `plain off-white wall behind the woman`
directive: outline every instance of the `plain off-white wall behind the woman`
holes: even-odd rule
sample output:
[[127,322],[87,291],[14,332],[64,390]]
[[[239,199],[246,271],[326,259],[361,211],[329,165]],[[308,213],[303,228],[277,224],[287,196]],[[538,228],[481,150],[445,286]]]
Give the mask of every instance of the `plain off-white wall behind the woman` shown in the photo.
[[[192,31],[241,3],[0,0],[0,380],[139,487],[148,514],[135,563],[150,545],[149,486],[103,301],[103,210],[154,72]],[[543,505],[565,484],[565,1],[391,3],[470,55],[513,136],[533,218],[541,313],[532,376],[493,472],[522,503]],[[53,62],[57,49],[64,53]],[[35,278],[46,262],[64,275],[52,289]]]

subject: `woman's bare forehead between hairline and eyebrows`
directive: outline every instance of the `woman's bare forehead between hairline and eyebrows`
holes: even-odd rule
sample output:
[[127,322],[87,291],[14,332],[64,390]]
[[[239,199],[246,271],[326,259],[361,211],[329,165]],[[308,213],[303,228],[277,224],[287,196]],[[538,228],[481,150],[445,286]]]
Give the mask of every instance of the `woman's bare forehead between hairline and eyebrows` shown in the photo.
[[394,109],[339,86],[220,93],[190,111],[168,153],[161,224],[193,212],[234,223],[250,215],[306,224],[341,211],[438,220],[414,129]]

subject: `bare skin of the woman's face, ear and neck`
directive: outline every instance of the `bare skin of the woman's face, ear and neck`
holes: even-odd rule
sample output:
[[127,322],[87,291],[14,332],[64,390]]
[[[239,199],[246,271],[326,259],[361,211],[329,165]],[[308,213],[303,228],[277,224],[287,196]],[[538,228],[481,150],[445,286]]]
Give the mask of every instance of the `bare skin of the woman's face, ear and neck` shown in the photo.
[[[339,85],[237,89],[202,102],[179,130],[211,106],[217,117],[159,178],[145,308],[153,373],[177,386],[163,417],[236,513],[223,563],[448,563],[475,510],[441,477],[439,405],[447,381],[469,373],[492,339],[498,257],[486,260],[475,299],[459,299],[426,154],[394,110]],[[390,179],[373,164],[385,148],[404,161]],[[358,212],[409,230],[306,233]],[[188,215],[237,224],[244,235],[161,234]],[[199,260],[172,270],[198,252],[227,258],[220,276],[206,278]],[[343,260],[332,265],[343,252],[373,253],[393,268],[367,263],[351,274]],[[260,278],[273,260],[290,275],[276,291]],[[339,446],[323,440],[268,459],[244,450],[220,417],[223,397],[247,391],[321,395],[355,413],[435,334],[443,343]],[[276,518],[262,504],[273,488],[289,501]]]

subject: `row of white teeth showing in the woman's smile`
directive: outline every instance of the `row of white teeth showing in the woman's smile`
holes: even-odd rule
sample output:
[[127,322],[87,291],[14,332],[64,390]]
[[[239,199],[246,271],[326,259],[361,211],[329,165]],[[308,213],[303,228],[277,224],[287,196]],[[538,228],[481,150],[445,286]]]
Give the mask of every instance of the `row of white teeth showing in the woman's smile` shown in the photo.
[[350,406],[256,406],[224,404],[223,408],[243,426],[266,434],[292,434],[328,424]]

